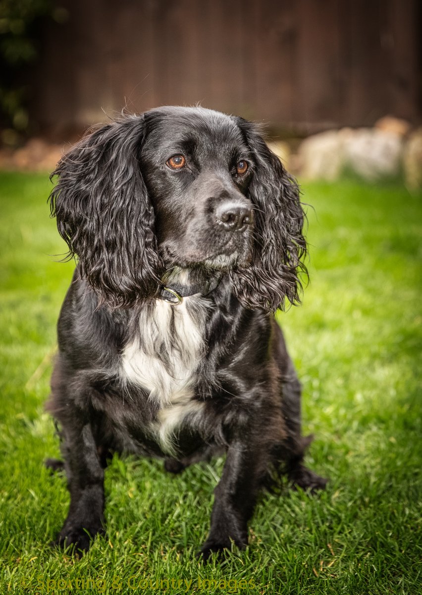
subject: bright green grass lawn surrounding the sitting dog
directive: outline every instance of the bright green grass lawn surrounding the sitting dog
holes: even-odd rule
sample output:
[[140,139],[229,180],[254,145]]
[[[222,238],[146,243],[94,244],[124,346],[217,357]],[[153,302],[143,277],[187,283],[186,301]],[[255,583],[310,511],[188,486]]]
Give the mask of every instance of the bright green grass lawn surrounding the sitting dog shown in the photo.
[[68,494],[43,468],[59,453],[43,403],[73,268],[53,256],[64,245],[49,187],[47,176],[0,176],[0,593],[420,593],[422,196],[304,185],[311,281],[279,321],[303,381],[304,431],[316,435],[307,463],[330,483],[317,497],[263,494],[248,549],[203,567],[194,554],[221,459],[172,477],[159,461],[115,458],[108,537],[80,560],[47,546]]

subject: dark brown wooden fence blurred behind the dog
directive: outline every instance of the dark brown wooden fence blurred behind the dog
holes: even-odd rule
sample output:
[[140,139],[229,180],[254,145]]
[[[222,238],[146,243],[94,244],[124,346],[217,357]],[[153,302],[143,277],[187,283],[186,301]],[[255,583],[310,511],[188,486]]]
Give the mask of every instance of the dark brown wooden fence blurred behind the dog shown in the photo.
[[420,0],[62,0],[34,71],[40,126],[156,105],[309,133],[421,119]]

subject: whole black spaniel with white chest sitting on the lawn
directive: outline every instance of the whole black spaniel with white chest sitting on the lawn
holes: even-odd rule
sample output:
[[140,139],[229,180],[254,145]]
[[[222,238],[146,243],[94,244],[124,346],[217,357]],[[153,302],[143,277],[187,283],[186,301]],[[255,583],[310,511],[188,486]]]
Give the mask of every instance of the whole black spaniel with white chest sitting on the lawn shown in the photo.
[[300,384],[271,315],[298,300],[297,185],[256,126],[181,107],[97,129],[53,175],[78,257],[49,403],[71,496],[57,543],[87,549],[104,532],[110,452],[172,472],[226,452],[201,552],[245,546],[271,470],[326,483],[302,465]]

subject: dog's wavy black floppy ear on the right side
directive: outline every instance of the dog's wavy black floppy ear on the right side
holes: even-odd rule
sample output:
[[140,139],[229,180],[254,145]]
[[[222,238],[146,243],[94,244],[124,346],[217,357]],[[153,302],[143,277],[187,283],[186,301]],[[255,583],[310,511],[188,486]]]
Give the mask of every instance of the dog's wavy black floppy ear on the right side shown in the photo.
[[231,274],[234,292],[249,308],[275,312],[285,299],[300,301],[300,273],[306,274],[302,234],[304,212],[299,189],[257,127],[237,118],[255,162],[249,197],[256,206],[250,264]]

